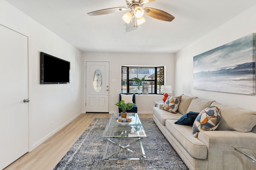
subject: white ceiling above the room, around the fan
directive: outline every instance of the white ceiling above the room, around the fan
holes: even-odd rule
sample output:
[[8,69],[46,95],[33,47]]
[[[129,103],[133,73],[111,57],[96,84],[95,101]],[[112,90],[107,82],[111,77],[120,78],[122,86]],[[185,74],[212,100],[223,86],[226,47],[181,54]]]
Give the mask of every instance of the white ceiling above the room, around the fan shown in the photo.
[[[140,29],[126,33],[117,12],[88,16],[125,0],[6,0],[84,52],[176,53],[256,5],[256,0],[155,0],[145,4],[172,14],[172,22],[144,16]],[[252,18],[255,20],[255,18]],[[232,31],[232,30],[231,30]]]

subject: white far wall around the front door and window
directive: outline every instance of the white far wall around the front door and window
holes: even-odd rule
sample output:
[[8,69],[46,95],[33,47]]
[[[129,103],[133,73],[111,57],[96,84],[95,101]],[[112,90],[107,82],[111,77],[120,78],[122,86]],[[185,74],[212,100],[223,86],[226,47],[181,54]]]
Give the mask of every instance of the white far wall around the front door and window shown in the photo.
[[[166,66],[165,84],[174,89],[173,54],[127,54],[127,53],[84,53],[85,61],[110,61],[110,113],[118,112],[114,104],[121,92],[121,66]],[[115,79],[116,82],[111,80]],[[174,93],[174,90],[173,90]],[[138,113],[152,113],[154,100],[162,100],[162,95],[136,95]],[[142,109],[144,106],[144,109]]]

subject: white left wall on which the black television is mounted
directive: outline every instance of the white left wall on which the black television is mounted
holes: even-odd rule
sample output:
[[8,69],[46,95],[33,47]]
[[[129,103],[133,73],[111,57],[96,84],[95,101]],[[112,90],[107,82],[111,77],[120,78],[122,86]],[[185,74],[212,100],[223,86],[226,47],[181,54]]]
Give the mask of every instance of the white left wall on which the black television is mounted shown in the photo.
[[[0,24],[28,36],[29,149],[33,150],[82,113],[82,53],[4,0],[0,0]],[[70,84],[40,84],[40,51],[70,61]]]

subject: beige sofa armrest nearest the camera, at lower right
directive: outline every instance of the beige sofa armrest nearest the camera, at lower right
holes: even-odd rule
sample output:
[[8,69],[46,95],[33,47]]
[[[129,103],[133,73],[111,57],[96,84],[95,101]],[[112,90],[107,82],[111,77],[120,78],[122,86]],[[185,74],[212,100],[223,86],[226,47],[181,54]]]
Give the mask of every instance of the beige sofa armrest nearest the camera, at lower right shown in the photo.
[[255,148],[256,134],[238,131],[200,131],[198,139],[208,149],[208,167],[213,169],[252,169],[253,162],[232,146]]

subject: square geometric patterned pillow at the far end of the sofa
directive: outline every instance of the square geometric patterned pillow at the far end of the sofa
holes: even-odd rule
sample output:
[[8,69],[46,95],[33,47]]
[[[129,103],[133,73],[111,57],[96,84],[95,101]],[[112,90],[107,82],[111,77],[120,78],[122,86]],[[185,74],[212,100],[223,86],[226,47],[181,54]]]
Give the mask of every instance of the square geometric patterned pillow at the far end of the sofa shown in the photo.
[[182,96],[178,96],[178,97],[168,96],[168,98],[164,102],[164,106],[162,107],[162,109],[170,111],[172,113],[176,113],[178,110],[181,98]]

